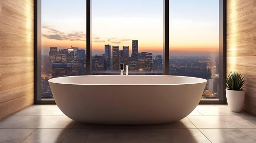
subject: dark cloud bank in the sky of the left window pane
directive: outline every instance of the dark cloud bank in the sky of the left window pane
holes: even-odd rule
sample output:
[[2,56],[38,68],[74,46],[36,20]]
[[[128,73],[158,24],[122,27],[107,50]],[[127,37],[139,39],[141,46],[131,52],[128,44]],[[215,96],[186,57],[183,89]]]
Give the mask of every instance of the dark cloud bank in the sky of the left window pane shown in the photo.
[[86,41],[86,34],[84,32],[65,33],[48,26],[43,26],[47,29],[47,34],[43,33],[43,37],[54,40],[69,40],[69,41]]

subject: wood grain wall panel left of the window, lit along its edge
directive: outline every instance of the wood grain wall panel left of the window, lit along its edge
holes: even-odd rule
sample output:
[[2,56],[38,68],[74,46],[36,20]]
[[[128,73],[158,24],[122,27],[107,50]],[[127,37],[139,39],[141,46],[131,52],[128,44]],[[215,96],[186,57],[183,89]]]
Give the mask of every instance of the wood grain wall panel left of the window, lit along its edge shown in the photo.
[[0,121],[33,104],[33,0],[0,0]]

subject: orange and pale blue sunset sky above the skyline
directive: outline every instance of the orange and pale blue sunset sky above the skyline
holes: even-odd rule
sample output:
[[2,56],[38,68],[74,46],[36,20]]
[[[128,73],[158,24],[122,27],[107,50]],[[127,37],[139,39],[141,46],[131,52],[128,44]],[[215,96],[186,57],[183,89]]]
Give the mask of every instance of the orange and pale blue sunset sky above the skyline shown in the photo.
[[[146,3],[145,3],[146,2]],[[86,47],[86,1],[42,1],[42,47]],[[219,0],[170,0],[170,51],[219,51]],[[92,55],[104,45],[129,45],[139,52],[163,53],[163,1],[92,0]],[[131,54],[131,53],[130,53]]]

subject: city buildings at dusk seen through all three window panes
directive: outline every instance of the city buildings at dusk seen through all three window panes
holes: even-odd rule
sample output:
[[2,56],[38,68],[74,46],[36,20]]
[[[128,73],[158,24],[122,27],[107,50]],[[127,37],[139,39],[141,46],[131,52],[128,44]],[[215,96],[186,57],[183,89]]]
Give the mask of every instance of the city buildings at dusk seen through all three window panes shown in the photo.
[[[120,64],[129,65],[129,75],[163,75],[162,55],[139,52],[139,41],[129,46],[105,44],[104,53],[92,56],[92,75],[119,75]],[[112,49],[111,49],[112,48]],[[86,51],[70,46],[67,49],[49,47],[49,54],[42,55],[42,99],[52,99],[48,80],[56,77],[86,75]],[[169,75],[207,79],[202,99],[219,99],[219,57],[171,56]]]

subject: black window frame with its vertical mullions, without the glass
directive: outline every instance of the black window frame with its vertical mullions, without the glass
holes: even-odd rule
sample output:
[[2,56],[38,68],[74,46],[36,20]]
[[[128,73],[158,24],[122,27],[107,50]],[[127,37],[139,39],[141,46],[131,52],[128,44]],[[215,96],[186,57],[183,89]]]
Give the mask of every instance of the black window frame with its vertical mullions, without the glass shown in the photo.
[[[34,0],[34,104],[56,104],[54,100],[42,100],[41,97],[41,1]],[[91,75],[91,1],[86,1],[86,73]],[[177,0],[178,1],[178,0]],[[169,75],[169,0],[164,3],[164,71]],[[220,100],[201,100],[200,104],[226,104],[226,8],[227,0],[219,0],[219,61],[220,61]]]

